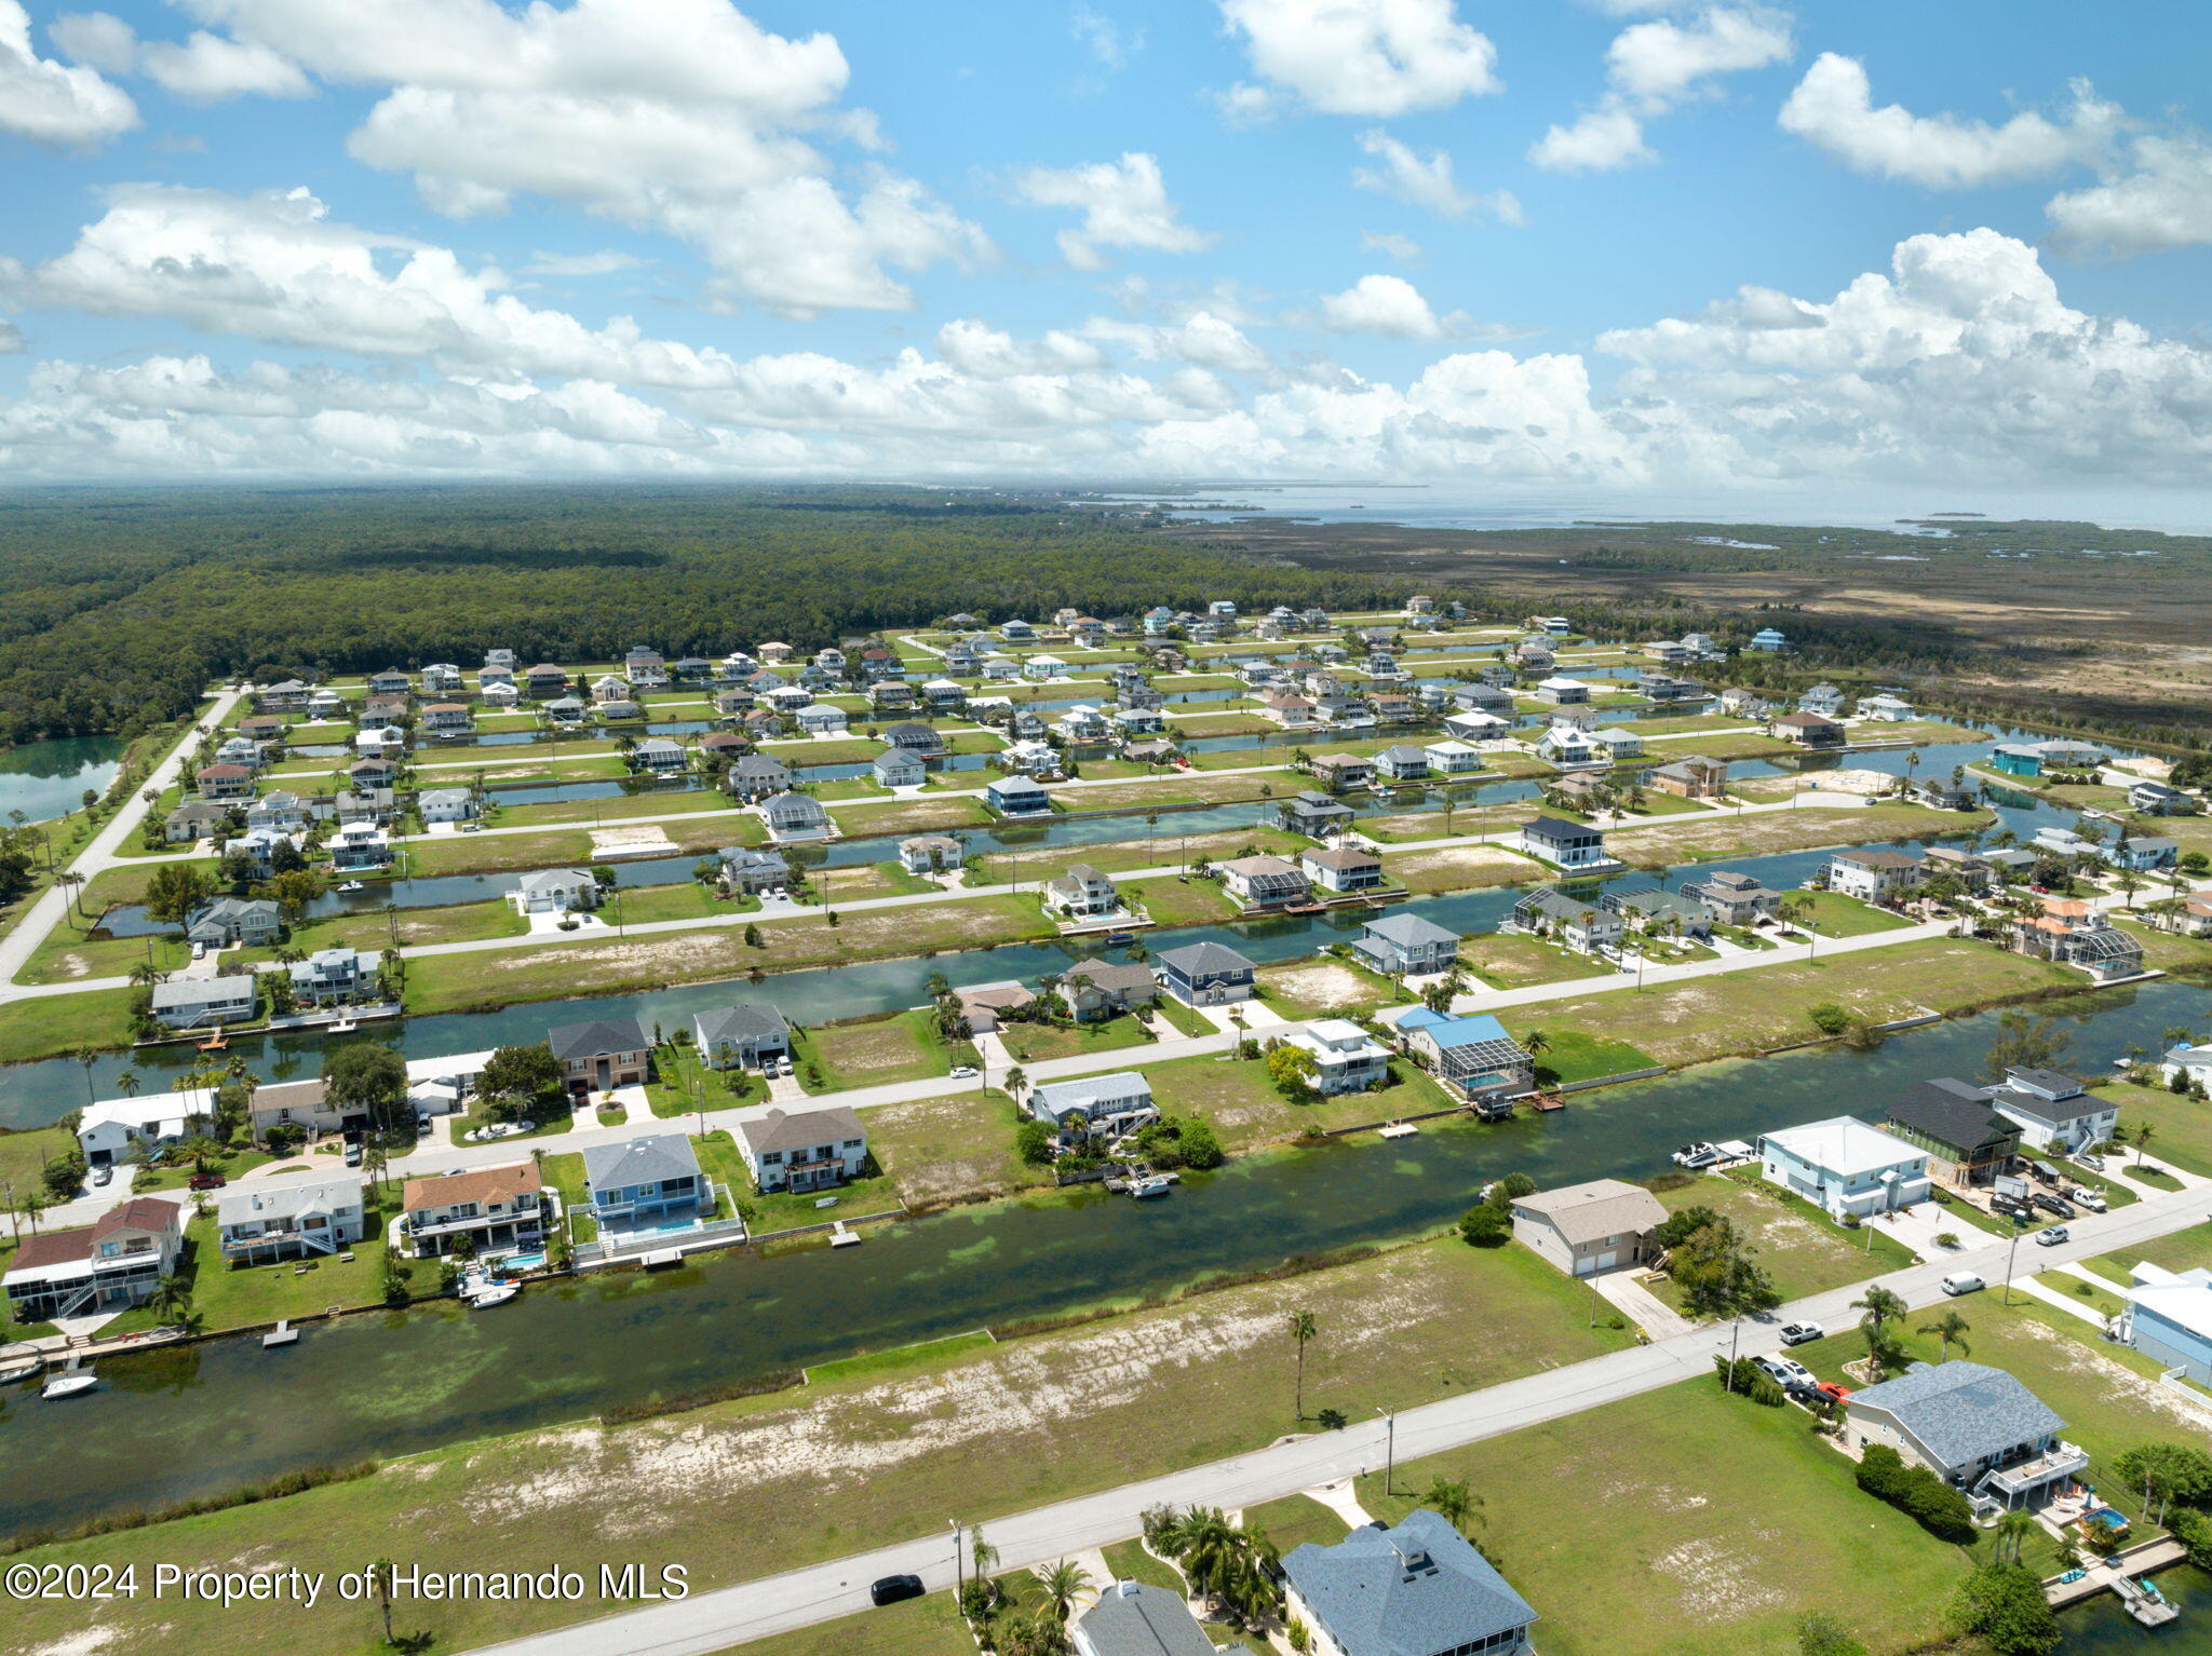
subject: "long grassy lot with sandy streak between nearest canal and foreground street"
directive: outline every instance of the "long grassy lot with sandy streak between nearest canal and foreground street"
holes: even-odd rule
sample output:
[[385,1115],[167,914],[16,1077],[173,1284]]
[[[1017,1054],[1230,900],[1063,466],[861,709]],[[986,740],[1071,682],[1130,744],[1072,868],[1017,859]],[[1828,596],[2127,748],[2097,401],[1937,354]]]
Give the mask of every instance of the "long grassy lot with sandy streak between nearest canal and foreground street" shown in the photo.
[[[392,1534],[407,1534],[449,1568],[542,1570],[580,1548],[619,1545],[626,1557],[686,1563],[695,1587],[714,1587],[942,1532],[947,1512],[989,1526],[1040,1501],[1259,1448],[1294,1426],[1296,1358],[1283,1335],[1294,1307],[1321,1324],[1305,1355],[1307,1411],[1354,1417],[1626,1340],[1586,1327],[1586,1296],[1522,1249],[1438,1240],[801,1393],[434,1450],[363,1481],[24,1559],[358,1568]],[[1071,1435],[1084,1455],[1066,1453]],[[416,1607],[407,1621],[440,1647],[469,1649],[584,1614],[595,1607],[451,1603]],[[9,1636],[42,1649],[82,1641],[93,1623],[111,1647],[148,1656],[219,1645],[352,1649],[372,1641],[374,1607],[332,1596],[314,1612],[115,1601],[86,1614],[46,1601],[11,1610]]]

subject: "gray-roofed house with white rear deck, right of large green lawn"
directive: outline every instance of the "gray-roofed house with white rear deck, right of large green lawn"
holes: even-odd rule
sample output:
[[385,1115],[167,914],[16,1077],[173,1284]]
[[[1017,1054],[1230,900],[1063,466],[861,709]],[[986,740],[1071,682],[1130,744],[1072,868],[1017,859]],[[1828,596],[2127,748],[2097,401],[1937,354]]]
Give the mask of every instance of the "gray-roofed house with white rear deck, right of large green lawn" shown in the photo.
[[1887,1444],[1982,1510],[2042,1506],[2086,1472],[2088,1455],[2059,1437],[2064,1428],[2004,1369],[1966,1358],[1916,1362],[1843,1400],[1845,1444]]

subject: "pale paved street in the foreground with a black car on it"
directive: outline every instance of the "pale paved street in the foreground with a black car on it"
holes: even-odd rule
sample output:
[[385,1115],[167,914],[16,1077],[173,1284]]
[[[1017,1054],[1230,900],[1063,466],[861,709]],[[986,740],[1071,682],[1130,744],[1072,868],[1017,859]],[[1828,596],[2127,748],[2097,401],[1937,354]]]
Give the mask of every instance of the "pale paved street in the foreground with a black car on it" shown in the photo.
[[[2185,1225],[2203,1223],[2205,1201],[2201,1189],[2177,1192],[2137,1203],[2117,1214],[2070,1220],[2068,1227],[2075,1240],[2059,1247],[2031,1245],[2024,1254],[2033,1254],[2035,1258],[2022,1258],[2017,1265],[2024,1274],[2042,1271],[2068,1260],[2146,1243]],[[1995,1285],[2002,1282],[2008,1254],[2011,1245],[1993,1243],[1991,1247],[1953,1254],[1944,1260],[1916,1265],[1876,1280],[1918,1309],[1944,1298],[1940,1282],[1951,1271],[1978,1271],[1993,1285],[1991,1293],[2000,1291]],[[1829,1329],[1849,1327],[1858,1316],[1851,1311],[1851,1300],[1860,1298],[1865,1287],[1865,1282],[1858,1282],[1814,1293],[1756,1322],[1743,1322],[1739,1353],[1759,1355],[1774,1349],[1770,1331],[1783,1322],[1809,1318]],[[1971,1316],[1973,1300],[1964,1300],[1962,1309]],[[1650,1346],[1617,1351],[1568,1369],[1526,1375],[1502,1386],[1409,1408],[1396,1422],[1398,1461],[1411,1461],[1462,1444],[1475,1444],[1484,1437],[1537,1426],[1546,1419],[1599,1408],[1679,1380],[1710,1375],[1712,1360],[1730,1351],[1730,1324],[1708,1327]],[[1079,1442],[1071,1442],[1068,1453],[1079,1455]],[[1380,1468],[1383,1457],[1385,1424],[1369,1419],[1354,1422],[1340,1433],[1298,1437],[1250,1455],[1234,1455],[1225,1461],[1192,1466],[1181,1472],[1146,1479],[1144,1484],[1124,1484],[1115,1490],[1057,1501],[1011,1517],[975,1512],[953,1512],[947,1517],[989,1519],[989,1537],[1000,1552],[1000,1568],[1022,1570],[1137,1534],[1148,1506],[1259,1506],[1261,1501]],[[951,1563],[951,1539],[940,1532],[832,1563],[748,1581],[737,1587],[721,1587],[681,1603],[653,1605],[560,1632],[491,1645],[484,1647],[484,1656],[706,1656],[706,1652],[719,1652],[739,1641],[765,1638],[768,1634],[867,1610],[867,1583],[878,1576],[911,1572],[922,1576],[931,1590],[949,1587],[953,1581]]]

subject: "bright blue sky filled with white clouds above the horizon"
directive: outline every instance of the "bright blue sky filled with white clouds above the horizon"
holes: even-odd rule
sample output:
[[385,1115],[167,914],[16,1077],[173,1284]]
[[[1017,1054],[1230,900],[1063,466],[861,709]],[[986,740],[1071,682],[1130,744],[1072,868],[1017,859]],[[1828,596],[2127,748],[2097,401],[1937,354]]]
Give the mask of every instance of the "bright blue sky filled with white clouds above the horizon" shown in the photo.
[[2208,33],[0,0],[0,475],[2194,495]]

